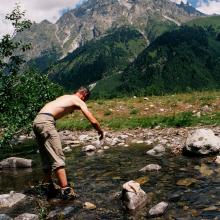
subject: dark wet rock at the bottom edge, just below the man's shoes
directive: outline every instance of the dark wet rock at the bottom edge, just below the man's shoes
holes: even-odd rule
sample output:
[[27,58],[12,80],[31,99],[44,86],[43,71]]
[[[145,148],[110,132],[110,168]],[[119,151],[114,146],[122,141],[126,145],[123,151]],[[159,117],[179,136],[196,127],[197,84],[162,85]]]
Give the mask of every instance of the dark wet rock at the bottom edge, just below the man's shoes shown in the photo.
[[63,208],[58,208],[56,210],[51,211],[47,219],[49,220],[54,220],[54,219],[68,219],[68,216],[74,211],[73,206],[67,206],[64,209]]

